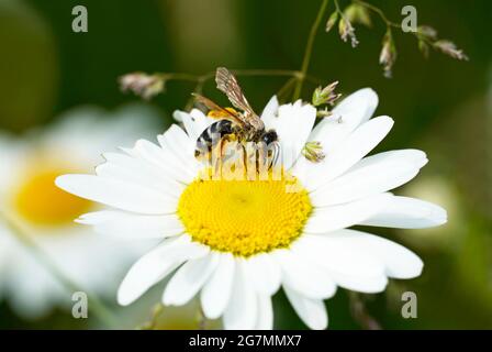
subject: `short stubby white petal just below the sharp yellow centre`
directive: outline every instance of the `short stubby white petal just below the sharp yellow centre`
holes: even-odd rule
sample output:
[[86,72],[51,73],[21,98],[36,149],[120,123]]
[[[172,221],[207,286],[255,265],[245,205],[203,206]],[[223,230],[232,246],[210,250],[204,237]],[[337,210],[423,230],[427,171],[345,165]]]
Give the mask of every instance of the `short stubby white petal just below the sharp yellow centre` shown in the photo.
[[251,256],[245,267],[259,294],[271,296],[280,288],[280,266],[269,254]]

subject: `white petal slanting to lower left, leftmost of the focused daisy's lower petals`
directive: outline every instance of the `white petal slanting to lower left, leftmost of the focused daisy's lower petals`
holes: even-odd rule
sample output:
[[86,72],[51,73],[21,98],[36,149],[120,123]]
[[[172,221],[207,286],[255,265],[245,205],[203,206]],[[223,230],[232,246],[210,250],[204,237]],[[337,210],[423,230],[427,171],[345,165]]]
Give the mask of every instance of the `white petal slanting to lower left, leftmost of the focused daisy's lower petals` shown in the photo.
[[118,290],[118,302],[127,306],[187,260],[206,255],[208,248],[189,237],[171,239],[141,257],[128,271]]

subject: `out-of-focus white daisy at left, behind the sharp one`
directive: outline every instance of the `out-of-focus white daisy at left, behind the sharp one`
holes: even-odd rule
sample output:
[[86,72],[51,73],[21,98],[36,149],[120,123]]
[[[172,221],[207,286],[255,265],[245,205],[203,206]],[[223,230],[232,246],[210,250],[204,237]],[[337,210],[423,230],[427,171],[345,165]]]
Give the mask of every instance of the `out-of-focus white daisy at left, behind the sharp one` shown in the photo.
[[[98,209],[98,205],[60,190],[54,180],[69,172],[89,172],[103,161],[103,151],[148,134],[156,120],[153,110],[139,106],[122,108],[112,116],[86,107],[23,138],[0,135],[1,211],[81,289],[108,296],[123,274],[121,266],[143,252],[74,223],[75,217]],[[64,290],[0,221],[1,296],[27,318],[38,317],[55,305],[71,304],[71,293]]]

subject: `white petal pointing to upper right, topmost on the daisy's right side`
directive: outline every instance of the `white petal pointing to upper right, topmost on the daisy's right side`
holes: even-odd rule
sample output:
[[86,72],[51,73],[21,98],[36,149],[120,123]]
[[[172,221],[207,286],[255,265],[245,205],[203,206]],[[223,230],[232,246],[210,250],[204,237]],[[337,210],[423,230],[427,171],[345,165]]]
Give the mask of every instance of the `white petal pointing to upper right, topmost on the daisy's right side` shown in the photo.
[[310,141],[323,144],[325,154],[329,154],[355,129],[370,119],[378,106],[378,95],[370,88],[364,88],[340,101],[333,116],[323,119],[310,135]]

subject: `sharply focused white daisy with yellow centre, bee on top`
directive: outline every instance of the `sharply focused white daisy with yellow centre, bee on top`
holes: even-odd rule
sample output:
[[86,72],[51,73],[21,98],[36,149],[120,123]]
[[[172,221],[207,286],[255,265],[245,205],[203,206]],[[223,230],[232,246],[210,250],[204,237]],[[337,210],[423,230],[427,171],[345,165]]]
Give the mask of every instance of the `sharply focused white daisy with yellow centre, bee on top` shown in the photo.
[[[384,290],[389,277],[412,278],[422,261],[405,248],[356,224],[426,228],[446,222],[433,204],[388,193],[418,173],[424,152],[392,151],[366,157],[393,125],[370,119],[378,105],[361,89],[316,127],[316,110],[301,101],[280,106],[273,97],[261,118],[275,129],[289,180],[203,180],[193,157],[195,141],[214,120],[199,110],[177,112],[186,132],[172,125],[123,154],[105,154],[97,175],[65,175],[63,189],[111,207],[79,222],[102,232],[164,239],[137,261],[118,293],[130,305],[166,276],[163,302],[181,306],[200,295],[204,315],[223,317],[226,329],[271,329],[271,296],[282,287],[312,329],[327,326],[323,300],[338,286]],[[324,160],[308,161],[306,142]],[[318,142],[318,143],[317,143]],[[302,188],[286,191],[294,182]]]

